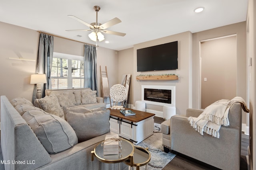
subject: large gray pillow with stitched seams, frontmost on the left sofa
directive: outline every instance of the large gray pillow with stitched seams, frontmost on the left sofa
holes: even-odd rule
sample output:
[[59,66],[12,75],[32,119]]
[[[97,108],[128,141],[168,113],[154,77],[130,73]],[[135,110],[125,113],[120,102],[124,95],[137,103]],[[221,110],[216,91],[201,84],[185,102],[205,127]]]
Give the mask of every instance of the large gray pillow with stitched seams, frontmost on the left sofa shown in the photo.
[[78,143],[76,133],[64,119],[42,110],[22,115],[48,153],[66,150]]

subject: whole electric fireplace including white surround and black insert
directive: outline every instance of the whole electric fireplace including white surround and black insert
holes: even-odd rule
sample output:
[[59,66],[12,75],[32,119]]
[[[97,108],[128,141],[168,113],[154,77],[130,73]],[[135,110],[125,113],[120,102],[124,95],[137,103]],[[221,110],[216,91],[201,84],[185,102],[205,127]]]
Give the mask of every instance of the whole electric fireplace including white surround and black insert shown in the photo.
[[175,86],[142,85],[142,101],[157,106],[175,106]]

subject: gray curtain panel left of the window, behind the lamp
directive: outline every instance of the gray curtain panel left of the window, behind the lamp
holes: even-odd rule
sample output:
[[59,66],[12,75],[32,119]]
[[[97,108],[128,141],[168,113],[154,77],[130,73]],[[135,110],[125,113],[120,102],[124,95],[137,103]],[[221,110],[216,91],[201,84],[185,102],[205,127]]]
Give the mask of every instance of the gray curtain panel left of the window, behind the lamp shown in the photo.
[[[44,91],[49,89],[50,75],[52,70],[52,56],[53,56],[53,36],[40,33],[38,54],[36,60],[36,72],[35,74],[46,74],[47,83],[42,86],[42,96],[45,96]],[[36,100],[36,84],[33,91],[32,102]]]

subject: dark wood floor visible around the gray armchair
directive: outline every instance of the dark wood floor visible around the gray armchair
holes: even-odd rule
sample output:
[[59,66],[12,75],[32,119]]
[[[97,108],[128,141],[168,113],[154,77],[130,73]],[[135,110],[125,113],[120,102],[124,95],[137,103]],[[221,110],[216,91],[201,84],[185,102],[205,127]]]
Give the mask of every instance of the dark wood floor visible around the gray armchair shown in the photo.
[[[162,123],[164,119],[161,117],[154,117],[155,123]],[[249,145],[249,136],[242,134],[241,139],[241,158],[240,170],[247,170],[246,155],[247,147]],[[214,166],[210,166],[196,159],[190,158],[184,154],[177,153],[177,155],[170,161],[162,170],[219,170]]]

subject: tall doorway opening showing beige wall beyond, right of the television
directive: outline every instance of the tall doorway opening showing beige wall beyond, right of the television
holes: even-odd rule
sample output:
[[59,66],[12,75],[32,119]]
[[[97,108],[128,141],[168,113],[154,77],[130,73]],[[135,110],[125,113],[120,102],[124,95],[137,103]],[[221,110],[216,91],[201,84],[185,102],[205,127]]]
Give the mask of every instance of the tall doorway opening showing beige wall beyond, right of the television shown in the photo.
[[236,96],[236,35],[200,42],[201,108]]

